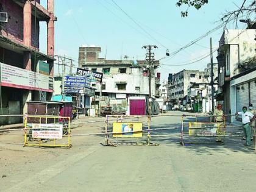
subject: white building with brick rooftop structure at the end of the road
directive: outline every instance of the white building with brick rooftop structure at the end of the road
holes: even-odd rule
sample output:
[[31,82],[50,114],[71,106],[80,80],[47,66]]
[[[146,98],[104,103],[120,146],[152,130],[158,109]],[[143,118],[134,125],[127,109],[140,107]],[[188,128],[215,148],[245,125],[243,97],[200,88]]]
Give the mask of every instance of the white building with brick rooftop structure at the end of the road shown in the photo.
[[[146,60],[107,60],[99,57],[100,47],[82,46],[79,48],[79,67],[103,73],[102,85],[91,83],[96,88],[96,97],[102,95],[101,104],[120,104],[129,114],[129,99],[149,96],[149,66]],[[159,65],[154,62],[151,73],[151,96],[156,96],[154,74]],[[102,99],[105,98],[105,99]],[[88,99],[88,98],[85,98]],[[93,99],[93,98],[91,98]],[[123,100],[123,101],[121,101]]]

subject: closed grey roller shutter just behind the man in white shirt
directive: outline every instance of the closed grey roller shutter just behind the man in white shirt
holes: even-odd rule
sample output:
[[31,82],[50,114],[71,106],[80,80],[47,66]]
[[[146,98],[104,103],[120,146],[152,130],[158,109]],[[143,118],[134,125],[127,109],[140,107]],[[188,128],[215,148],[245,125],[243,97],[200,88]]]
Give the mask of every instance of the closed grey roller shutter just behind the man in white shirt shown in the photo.
[[236,86],[236,111],[241,112],[244,106],[249,106],[249,90],[247,83]]

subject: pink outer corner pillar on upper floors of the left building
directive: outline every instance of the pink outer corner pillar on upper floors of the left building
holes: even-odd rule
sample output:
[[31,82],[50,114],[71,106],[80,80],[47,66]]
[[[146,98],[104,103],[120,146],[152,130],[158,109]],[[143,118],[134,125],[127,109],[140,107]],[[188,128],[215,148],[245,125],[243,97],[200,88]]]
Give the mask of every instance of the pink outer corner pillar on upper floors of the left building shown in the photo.
[[54,56],[54,0],[47,1],[47,9],[51,18],[47,23],[47,54]]

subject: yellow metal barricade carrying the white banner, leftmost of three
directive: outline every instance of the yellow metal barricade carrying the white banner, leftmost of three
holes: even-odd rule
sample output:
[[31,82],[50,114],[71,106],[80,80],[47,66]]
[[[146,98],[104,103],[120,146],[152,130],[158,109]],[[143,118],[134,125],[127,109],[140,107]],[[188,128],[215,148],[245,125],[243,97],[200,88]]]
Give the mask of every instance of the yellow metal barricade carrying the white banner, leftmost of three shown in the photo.
[[[70,117],[26,115],[24,119],[24,146],[70,148],[70,121]],[[66,143],[59,142],[66,138]],[[46,143],[44,143],[44,141],[46,141]]]

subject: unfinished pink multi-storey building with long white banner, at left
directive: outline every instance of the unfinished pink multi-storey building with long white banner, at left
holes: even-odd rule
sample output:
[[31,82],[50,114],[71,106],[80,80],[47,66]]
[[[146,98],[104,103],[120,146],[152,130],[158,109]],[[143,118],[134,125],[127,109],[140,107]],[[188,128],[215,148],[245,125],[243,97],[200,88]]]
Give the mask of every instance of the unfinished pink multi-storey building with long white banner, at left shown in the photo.
[[[0,113],[27,113],[27,101],[50,99],[53,91],[54,0],[0,0]],[[39,23],[47,23],[47,54],[39,51]],[[1,118],[0,124],[22,118]]]

